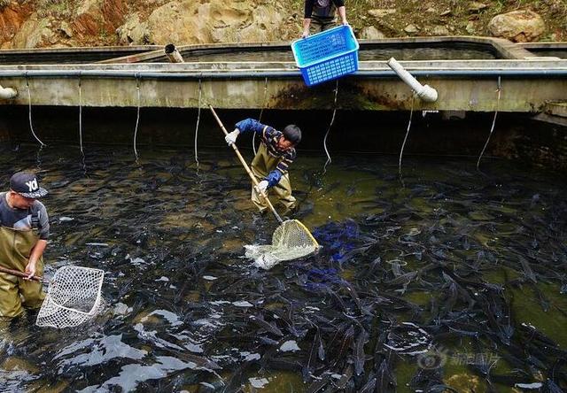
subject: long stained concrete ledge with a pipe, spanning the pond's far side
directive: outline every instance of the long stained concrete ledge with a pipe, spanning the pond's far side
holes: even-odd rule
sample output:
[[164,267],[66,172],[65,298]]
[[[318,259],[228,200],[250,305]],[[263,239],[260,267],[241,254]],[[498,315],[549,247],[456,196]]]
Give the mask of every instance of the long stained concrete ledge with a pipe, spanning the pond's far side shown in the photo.
[[[484,39],[475,37],[474,40]],[[442,39],[431,37],[426,41],[442,42]],[[263,46],[273,48],[276,45]],[[209,47],[227,48],[225,45]],[[493,112],[498,108],[503,112],[536,113],[543,112],[550,101],[564,100],[567,91],[567,60],[563,59],[532,57],[400,63],[423,84],[439,91],[436,103],[424,104],[415,100],[413,107],[416,110]],[[136,107],[139,104],[143,107],[196,108],[214,104],[227,109],[312,110],[334,107],[337,82],[307,88],[293,62],[122,62],[2,65],[0,85],[19,92],[15,99],[3,100],[0,104],[27,105],[30,103],[29,91],[32,105]],[[497,102],[499,86],[501,99]],[[338,80],[337,107],[364,111],[409,110],[412,91],[385,61],[361,61],[357,73]]]

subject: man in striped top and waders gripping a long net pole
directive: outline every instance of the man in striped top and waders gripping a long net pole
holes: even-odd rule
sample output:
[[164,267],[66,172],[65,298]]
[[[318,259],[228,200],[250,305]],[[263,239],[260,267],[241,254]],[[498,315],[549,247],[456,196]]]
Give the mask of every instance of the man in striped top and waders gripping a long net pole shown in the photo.
[[252,160],[252,173],[258,179],[258,189],[252,184],[252,202],[260,212],[266,212],[268,204],[259,194],[268,189],[276,191],[277,199],[291,212],[296,208],[295,197],[291,195],[288,167],[296,156],[295,146],[301,142],[301,130],[290,124],[283,132],[265,126],[258,120],[245,119],[237,122],[235,130],[225,137],[229,146],[237,142],[240,134],[253,132],[260,135],[260,149]]

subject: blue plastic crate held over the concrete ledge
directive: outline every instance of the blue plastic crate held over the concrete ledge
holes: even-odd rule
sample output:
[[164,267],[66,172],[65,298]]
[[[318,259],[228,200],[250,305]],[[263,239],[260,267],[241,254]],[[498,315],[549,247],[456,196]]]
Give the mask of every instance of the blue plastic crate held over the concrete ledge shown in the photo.
[[353,29],[342,25],[291,43],[295,62],[307,86],[337,79],[358,70],[358,42]]

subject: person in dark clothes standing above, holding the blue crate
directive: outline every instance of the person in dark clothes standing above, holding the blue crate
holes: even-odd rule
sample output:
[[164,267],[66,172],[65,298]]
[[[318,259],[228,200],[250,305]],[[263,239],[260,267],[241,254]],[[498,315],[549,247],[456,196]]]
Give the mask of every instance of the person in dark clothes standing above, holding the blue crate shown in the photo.
[[303,38],[314,35],[337,25],[337,12],[341,23],[346,22],[345,0],[305,0]]

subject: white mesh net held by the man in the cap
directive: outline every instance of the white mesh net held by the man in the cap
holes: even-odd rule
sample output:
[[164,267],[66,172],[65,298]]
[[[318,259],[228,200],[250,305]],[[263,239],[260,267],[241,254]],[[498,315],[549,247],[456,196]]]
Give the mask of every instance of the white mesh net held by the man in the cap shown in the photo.
[[105,272],[82,266],[64,266],[50,281],[37,314],[40,327],[71,328],[94,317],[100,309]]

